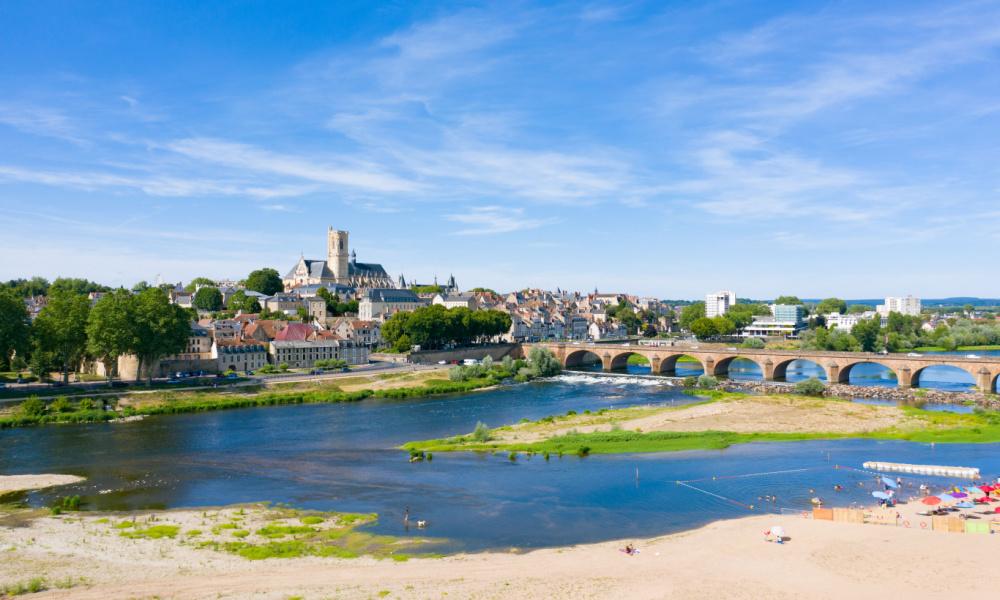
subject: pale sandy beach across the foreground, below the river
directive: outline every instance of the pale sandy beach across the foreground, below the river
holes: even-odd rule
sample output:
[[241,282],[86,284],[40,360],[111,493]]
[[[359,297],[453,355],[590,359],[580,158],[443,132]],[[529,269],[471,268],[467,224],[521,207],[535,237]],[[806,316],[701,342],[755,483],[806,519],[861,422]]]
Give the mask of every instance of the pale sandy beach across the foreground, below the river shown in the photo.
[[[160,513],[198,519],[199,511]],[[781,525],[790,539],[764,541]],[[954,598],[1000,585],[998,540],[890,526],[753,516],[635,543],[406,562],[249,561],[174,539],[105,535],[97,516],[0,528],[0,583],[68,581],[45,598]],[[34,596],[33,596],[34,597]]]

